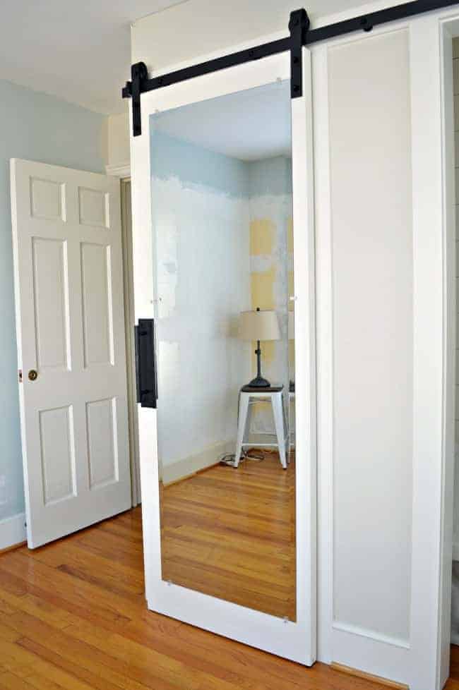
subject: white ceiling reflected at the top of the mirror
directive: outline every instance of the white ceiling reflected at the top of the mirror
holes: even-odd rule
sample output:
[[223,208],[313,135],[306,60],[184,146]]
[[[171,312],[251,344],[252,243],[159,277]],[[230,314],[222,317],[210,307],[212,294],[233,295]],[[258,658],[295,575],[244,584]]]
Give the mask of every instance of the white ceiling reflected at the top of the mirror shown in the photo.
[[153,116],[155,129],[244,161],[290,156],[290,82],[193,103]]

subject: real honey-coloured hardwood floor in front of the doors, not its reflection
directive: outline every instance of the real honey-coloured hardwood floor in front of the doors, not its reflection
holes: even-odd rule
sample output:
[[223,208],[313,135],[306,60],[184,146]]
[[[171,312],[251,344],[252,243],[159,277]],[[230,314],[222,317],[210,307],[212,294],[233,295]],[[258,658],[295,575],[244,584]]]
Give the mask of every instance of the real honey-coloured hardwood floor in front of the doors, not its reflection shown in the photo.
[[384,690],[146,610],[141,512],[0,555],[1,690]]

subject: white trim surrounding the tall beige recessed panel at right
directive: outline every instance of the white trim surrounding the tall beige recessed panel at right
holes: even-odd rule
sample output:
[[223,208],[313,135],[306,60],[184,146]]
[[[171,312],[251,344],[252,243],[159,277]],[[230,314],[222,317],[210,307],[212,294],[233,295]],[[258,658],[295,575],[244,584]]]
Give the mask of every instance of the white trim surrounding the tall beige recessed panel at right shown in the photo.
[[459,35],[458,19],[458,8],[453,8],[376,28],[367,37],[374,40],[396,30],[409,32],[414,428],[410,637],[406,643],[374,630],[346,627],[334,616],[335,373],[328,54],[336,45],[362,40],[362,35],[340,37],[312,49],[318,314],[318,659],[342,662],[405,683],[411,690],[439,690],[449,671],[455,226],[451,197],[453,91],[447,60],[451,59],[451,35]]

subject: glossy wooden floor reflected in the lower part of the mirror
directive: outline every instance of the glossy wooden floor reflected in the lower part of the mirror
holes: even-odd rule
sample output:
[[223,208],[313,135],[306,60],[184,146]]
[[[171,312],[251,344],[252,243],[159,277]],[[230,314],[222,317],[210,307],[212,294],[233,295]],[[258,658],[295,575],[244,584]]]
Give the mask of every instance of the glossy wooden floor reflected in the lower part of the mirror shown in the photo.
[[267,452],[163,488],[162,576],[295,620],[294,460]]

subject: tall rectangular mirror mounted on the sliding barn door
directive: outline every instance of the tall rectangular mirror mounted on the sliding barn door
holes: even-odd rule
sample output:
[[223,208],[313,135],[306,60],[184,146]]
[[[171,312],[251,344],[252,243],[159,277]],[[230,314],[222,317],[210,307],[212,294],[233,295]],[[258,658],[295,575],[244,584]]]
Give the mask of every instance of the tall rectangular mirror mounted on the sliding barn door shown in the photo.
[[162,579],[296,619],[290,86],[150,119]]

